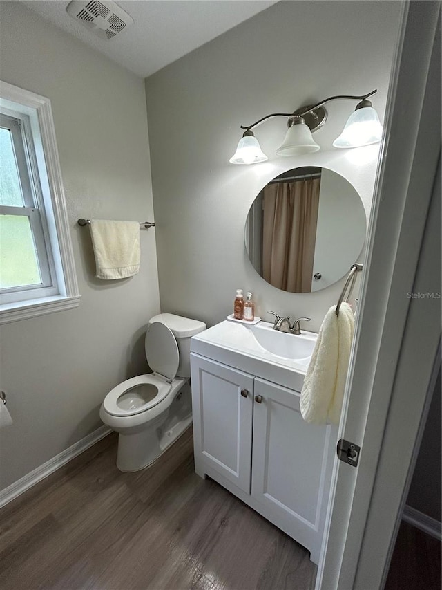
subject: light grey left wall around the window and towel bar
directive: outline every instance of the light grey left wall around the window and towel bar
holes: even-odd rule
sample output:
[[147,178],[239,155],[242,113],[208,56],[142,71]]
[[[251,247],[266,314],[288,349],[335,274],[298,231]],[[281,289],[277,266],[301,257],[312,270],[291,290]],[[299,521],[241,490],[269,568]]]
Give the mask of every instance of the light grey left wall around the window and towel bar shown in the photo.
[[79,308],[1,328],[0,388],[13,427],[0,432],[0,489],[95,430],[118,382],[147,368],[144,329],[158,313],[155,230],[141,231],[140,273],[94,278],[79,217],[152,221],[144,82],[16,2],[2,2],[1,78],[52,101]]

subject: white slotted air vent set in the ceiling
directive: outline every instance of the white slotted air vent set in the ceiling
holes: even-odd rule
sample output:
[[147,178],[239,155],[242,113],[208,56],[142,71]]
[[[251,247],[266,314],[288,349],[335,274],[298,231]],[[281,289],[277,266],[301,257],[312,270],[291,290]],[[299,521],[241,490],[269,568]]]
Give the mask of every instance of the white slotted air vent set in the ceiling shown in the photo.
[[111,0],[73,0],[66,10],[68,15],[80,21],[101,39],[112,39],[133,24],[133,18]]

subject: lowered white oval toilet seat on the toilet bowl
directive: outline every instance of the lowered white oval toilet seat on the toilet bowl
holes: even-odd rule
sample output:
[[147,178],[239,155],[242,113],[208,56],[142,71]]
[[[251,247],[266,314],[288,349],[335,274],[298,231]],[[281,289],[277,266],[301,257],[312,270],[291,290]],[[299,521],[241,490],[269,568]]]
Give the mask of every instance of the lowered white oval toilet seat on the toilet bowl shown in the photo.
[[[119,383],[109,391],[104,398],[103,407],[111,416],[134,416],[158,405],[169,391],[171,383],[163,380],[160,375],[139,375]],[[121,400],[123,396],[126,398]]]

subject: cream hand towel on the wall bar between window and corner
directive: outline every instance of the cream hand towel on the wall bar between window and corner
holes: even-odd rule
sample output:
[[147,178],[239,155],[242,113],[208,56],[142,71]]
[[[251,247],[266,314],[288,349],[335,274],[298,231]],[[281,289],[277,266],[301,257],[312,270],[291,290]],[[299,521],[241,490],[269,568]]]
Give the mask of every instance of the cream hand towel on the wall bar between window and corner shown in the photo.
[[92,219],[97,279],[124,279],[140,270],[140,223]]

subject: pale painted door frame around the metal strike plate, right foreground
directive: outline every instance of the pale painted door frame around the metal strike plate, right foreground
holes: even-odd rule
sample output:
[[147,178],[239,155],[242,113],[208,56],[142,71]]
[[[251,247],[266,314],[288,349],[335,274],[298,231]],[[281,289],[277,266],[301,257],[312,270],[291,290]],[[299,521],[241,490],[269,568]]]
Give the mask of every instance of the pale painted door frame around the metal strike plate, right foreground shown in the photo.
[[441,336],[440,302],[408,296],[441,288],[429,255],[440,216],[428,216],[440,87],[440,3],[404,2],[338,434],[361,446],[361,459],[356,469],[335,459],[316,590],[381,588],[401,518]]

